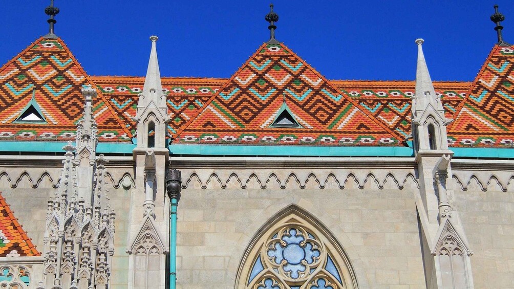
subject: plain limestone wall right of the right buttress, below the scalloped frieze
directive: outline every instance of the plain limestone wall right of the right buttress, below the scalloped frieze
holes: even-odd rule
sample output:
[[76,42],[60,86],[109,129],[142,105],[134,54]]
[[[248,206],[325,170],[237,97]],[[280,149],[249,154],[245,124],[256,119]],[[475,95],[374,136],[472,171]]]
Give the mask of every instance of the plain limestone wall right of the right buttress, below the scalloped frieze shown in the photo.
[[475,288],[514,287],[514,184],[504,192],[477,183],[455,191],[456,207],[473,251]]

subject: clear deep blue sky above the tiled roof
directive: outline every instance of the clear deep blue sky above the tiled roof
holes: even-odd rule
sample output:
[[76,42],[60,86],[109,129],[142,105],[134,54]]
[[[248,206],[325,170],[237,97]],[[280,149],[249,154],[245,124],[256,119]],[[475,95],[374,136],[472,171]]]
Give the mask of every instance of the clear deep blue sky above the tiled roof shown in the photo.
[[[49,0],[3,1],[5,63],[48,31]],[[55,0],[56,34],[90,75],[144,75],[150,35],[163,76],[229,78],[269,38],[269,1]],[[433,80],[471,81],[497,42],[500,5],[514,44],[512,0],[274,1],[277,39],[328,79],[413,80],[418,37]]]

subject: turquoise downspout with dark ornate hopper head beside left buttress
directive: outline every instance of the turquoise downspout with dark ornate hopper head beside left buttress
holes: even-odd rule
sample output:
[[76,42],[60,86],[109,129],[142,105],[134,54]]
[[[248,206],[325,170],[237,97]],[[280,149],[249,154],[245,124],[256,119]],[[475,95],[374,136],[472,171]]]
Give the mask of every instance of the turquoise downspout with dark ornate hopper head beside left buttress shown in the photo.
[[166,191],[170,198],[170,288],[175,289],[177,274],[177,205],[182,190],[181,172],[177,169],[168,170]]

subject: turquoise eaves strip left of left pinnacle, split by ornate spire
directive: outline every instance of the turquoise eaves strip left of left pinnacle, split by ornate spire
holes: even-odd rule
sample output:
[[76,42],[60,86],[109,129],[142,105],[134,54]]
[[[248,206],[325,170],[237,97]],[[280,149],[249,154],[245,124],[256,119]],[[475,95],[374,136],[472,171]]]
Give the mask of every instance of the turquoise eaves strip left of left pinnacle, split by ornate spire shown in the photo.
[[[0,151],[64,152],[67,142],[0,141]],[[75,145],[75,142],[74,142]],[[130,143],[99,143],[98,153],[132,153],[136,147]]]

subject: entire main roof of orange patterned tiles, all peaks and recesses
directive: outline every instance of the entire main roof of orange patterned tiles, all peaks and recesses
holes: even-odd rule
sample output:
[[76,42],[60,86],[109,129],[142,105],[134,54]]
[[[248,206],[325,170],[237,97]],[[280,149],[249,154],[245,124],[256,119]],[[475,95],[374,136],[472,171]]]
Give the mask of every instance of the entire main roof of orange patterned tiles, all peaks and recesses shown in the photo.
[[[73,140],[84,85],[97,88],[102,142],[130,142],[144,77],[89,77],[59,38],[0,68],[0,141]],[[328,81],[283,44],[264,44],[230,79],[162,78],[175,142],[401,145],[414,81]],[[514,143],[514,48],[494,46],[473,83],[434,82],[450,146]],[[219,91],[218,91],[219,90]],[[15,122],[32,92],[47,120]],[[270,128],[284,100],[302,128]]]

